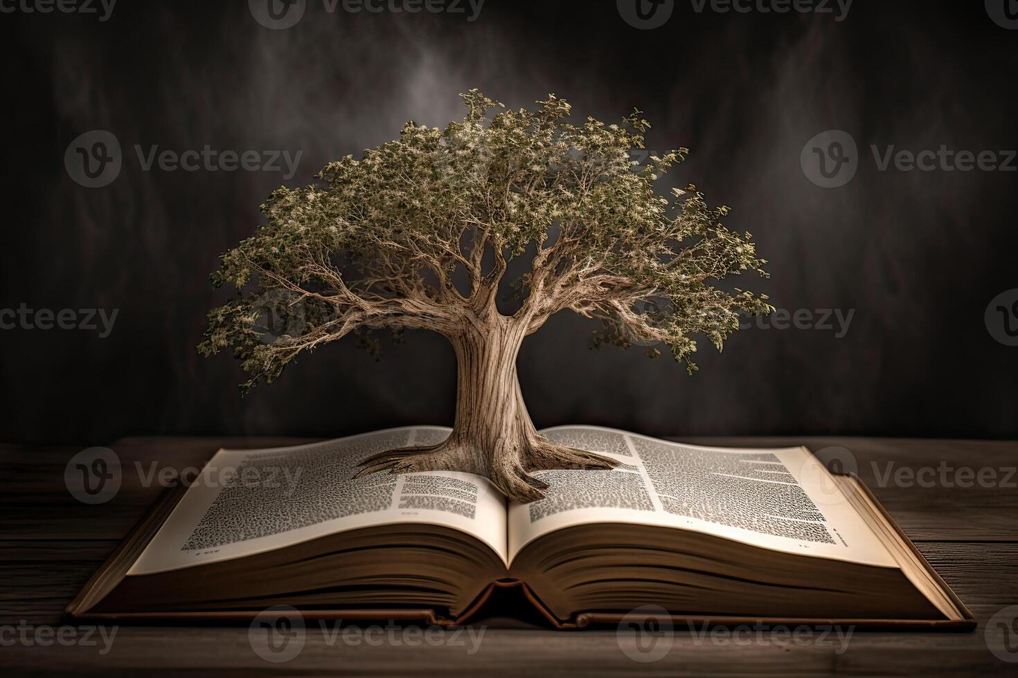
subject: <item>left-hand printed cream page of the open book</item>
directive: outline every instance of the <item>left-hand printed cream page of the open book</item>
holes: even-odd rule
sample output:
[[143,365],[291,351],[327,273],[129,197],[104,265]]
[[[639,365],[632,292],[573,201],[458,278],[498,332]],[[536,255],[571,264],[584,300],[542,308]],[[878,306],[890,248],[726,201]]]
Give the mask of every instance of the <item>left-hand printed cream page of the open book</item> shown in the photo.
[[506,560],[506,501],[487,479],[432,472],[353,480],[367,456],[435,444],[450,429],[407,427],[258,450],[206,465],[128,574],[278,549],[357,528],[423,522],[473,535]]

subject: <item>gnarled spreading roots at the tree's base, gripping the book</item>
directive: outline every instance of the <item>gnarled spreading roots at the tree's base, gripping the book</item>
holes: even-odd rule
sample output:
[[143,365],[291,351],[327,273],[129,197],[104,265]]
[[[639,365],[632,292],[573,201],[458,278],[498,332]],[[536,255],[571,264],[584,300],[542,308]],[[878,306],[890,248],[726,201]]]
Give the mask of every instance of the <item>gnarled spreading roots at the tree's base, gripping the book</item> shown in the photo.
[[[451,440],[451,438],[450,438]],[[446,440],[437,445],[398,447],[369,456],[360,463],[355,478],[388,471],[390,474],[461,471],[487,477],[510,499],[527,503],[544,498],[548,483],[530,472],[552,469],[606,471],[619,461],[583,449],[565,447],[544,438],[523,444],[502,441],[492,454],[474,445]]]

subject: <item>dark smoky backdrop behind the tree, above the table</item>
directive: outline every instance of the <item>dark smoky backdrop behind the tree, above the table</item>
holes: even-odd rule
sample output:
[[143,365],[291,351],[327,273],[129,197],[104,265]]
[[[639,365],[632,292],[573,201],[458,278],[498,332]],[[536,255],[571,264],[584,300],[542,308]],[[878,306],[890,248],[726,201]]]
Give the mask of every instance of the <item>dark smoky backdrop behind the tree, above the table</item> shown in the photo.
[[[211,6],[215,5],[215,7]],[[6,156],[0,308],[119,309],[112,333],[0,331],[3,429],[22,442],[131,434],[339,436],[449,424],[451,349],[409,333],[376,364],[353,340],[241,399],[228,356],[194,350],[217,257],[259,223],[281,172],[144,172],[133,151],[303,151],[299,185],[330,160],[394,137],[407,119],[462,116],[479,87],[510,106],[548,93],[574,117],[636,106],[652,149],[685,145],[676,181],[733,207],[781,308],[854,309],[848,332],[747,329],[690,377],[671,360],[587,350],[593,326],[559,315],[529,337],[520,379],[539,427],[652,435],[1018,436],[1018,348],[995,341],[991,299],[1018,288],[1015,172],[880,172],[869,144],[914,151],[1018,147],[1018,30],[982,2],[856,0],[830,14],[720,14],[677,0],[644,30],[614,2],[487,0],[464,14],[327,13],[285,30],[235,2],[120,0],[94,15],[0,14]],[[74,183],[64,151],[106,129],[123,169]],[[859,146],[846,186],[812,184],[807,139]]]

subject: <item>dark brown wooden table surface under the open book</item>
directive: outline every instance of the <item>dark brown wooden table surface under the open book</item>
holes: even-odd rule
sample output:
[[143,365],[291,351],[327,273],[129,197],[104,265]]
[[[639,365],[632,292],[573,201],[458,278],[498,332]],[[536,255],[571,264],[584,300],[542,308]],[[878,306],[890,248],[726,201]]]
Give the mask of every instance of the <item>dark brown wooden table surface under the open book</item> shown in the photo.
[[[0,445],[0,675],[64,671],[219,676],[405,672],[517,678],[629,673],[912,676],[949,671],[1018,675],[1018,607],[998,614],[988,630],[986,624],[1004,608],[1018,605],[1018,443],[887,438],[688,441],[746,447],[805,444],[823,450],[818,452],[822,458],[834,454],[849,468],[854,463],[859,476],[971,609],[979,627],[969,633],[856,631],[847,646],[833,634],[824,639],[818,634],[795,639],[757,630],[743,633],[735,642],[676,628],[671,637],[656,638],[671,644],[654,662],[633,659],[648,655],[641,654],[645,644],[636,646],[640,639],[629,634],[500,628],[506,624],[498,618],[472,629],[476,639],[484,626],[476,644],[465,634],[426,642],[417,635],[402,636],[402,631],[385,629],[344,641],[341,634],[308,627],[301,652],[278,664],[254,652],[246,625],[120,626],[107,643],[99,631],[66,625],[61,612],[161,492],[158,483],[145,481],[147,474],[154,468],[201,467],[222,446],[307,442],[130,438],[112,445],[123,469],[120,490],[98,505],[78,502],[64,485],[64,468],[80,448]],[[971,469],[972,475],[965,469]],[[102,630],[107,637],[113,631]]]

